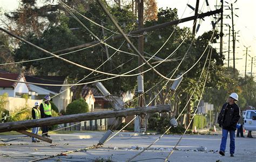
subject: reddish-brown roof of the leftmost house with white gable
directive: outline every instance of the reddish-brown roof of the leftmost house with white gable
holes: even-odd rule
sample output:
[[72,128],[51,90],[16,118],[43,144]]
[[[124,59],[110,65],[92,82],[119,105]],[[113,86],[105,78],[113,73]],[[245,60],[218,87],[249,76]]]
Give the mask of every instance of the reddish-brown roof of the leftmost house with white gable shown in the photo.
[[[23,75],[21,73],[0,73],[0,77],[12,79],[12,80],[21,80]],[[0,87],[12,87],[15,89],[17,84],[18,84],[17,82],[12,82],[12,81],[8,81],[8,80],[0,80]]]

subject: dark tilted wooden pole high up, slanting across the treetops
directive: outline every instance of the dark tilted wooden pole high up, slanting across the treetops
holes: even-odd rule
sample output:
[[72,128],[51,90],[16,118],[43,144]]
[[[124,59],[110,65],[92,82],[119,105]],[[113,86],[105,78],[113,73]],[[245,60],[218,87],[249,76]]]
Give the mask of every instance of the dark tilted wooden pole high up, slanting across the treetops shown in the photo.
[[[178,19],[176,21],[167,22],[167,23],[163,23],[163,24],[159,24],[159,25],[154,25],[154,26],[150,26],[150,27],[147,27],[147,28],[142,28],[142,29],[139,29],[139,30],[136,30],[136,31],[132,31],[129,34],[130,35],[141,34],[144,31],[152,31],[152,30],[156,30],[156,29],[160,29],[160,28],[165,28],[166,26],[177,25],[179,23],[184,23],[184,22],[192,21],[195,18],[204,18],[206,16],[211,16],[211,15],[219,14],[220,12],[221,12],[221,9],[214,10],[214,11],[209,11],[209,12],[205,12],[203,14],[197,14],[197,15],[194,15],[194,16],[191,16],[191,17],[186,17],[186,18]],[[117,35],[117,36],[112,37],[113,40],[117,40],[117,39],[121,39],[121,38],[123,38],[122,35]],[[59,50],[59,51],[56,51],[54,53],[71,51],[71,50],[76,50],[76,49],[82,49],[82,48],[86,48],[86,47],[91,46],[91,45],[95,45],[97,43],[100,43],[100,41],[97,40],[97,41],[94,41],[94,42],[91,42],[91,43],[85,43],[85,44],[73,46],[71,48]]]

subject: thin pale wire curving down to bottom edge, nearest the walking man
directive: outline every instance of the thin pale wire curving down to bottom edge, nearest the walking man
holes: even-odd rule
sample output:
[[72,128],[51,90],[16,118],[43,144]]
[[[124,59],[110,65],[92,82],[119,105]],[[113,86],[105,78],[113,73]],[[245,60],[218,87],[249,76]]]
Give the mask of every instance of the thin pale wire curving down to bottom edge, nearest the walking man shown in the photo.
[[200,104],[200,100],[201,98],[203,97],[203,92],[204,92],[204,89],[205,89],[205,84],[206,84],[206,80],[207,80],[207,77],[208,77],[208,72],[209,72],[209,68],[210,68],[210,63],[211,63],[211,57],[212,57],[212,49],[211,49],[211,55],[210,55],[210,60],[209,60],[209,63],[208,63],[208,68],[207,68],[207,72],[206,72],[206,76],[205,76],[205,81],[204,81],[204,86],[203,86],[203,89],[201,91],[201,95],[200,95],[200,98],[199,98],[199,101],[198,101],[198,104],[197,104],[197,108],[196,110],[194,111],[194,114],[193,114],[193,117],[192,119],[190,120],[190,123],[188,124],[185,132],[181,135],[180,139],[178,140],[177,144],[173,147],[172,151],[168,154],[168,156],[165,158],[165,161],[167,161],[170,156],[173,154],[173,151],[176,149],[176,147],[178,146],[178,144],[180,143],[181,139],[183,138],[184,134],[187,132],[188,128],[190,127],[193,119],[194,119],[194,116],[196,116],[196,112],[198,110],[198,106]]

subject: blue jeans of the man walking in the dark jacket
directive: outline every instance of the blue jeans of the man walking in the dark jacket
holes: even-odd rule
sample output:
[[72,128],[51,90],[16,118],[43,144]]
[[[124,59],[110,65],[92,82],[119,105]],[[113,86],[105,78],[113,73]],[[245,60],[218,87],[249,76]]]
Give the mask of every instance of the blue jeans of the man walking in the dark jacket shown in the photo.
[[225,150],[226,150],[228,132],[230,132],[230,153],[234,153],[234,149],[235,149],[235,144],[234,144],[235,131],[228,131],[228,130],[224,130],[224,129],[222,130],[220,151],[225,152]]

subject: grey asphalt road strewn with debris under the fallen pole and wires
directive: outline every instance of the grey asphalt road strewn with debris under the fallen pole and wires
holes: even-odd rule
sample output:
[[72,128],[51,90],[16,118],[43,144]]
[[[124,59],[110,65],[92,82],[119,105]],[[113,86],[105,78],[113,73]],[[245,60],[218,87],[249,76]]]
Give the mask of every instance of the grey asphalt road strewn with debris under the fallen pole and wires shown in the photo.
[[[102,132],[53,134],[53,143],[31,143],[31,138],[18,139],[3,143],[0,141],[0,161],[30,161],[66,151],[84,149],[98,143]],[[103,147],[93,150],[82,150],[51,157],[41,161],[93,161],[112,160],[126,161],[135,156],[143,148],[149,146],[160,135],[132,136],[133,133],[121,133],[104,144]],[[17,136],[1,136],[13,138]],[[22,137],[22,136],[19,136]],[[132,161],[164,161],[181,136],[166,135],[160,138],[149,150],[143,152]],[[256,161],[256,138],[235,138],[235,157],[230,157],[229,139],[227,141],[226,156],[218,153],[221,136],[186,135],[177,150],[170,156],[169,161]],[[4,144],[6,146],[4,146]],[[11,145],[9,145],[11,144]],[[200,150],[204,151],[198,151]]]

